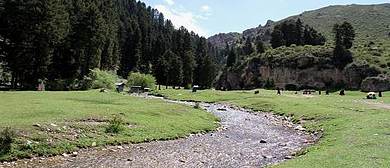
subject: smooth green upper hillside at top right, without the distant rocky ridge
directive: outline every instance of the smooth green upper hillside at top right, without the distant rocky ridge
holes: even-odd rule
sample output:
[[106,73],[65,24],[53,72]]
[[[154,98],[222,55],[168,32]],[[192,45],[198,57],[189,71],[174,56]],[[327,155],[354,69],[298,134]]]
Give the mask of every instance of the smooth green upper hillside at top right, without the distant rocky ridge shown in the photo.
[[328,6],[287,19],[297,18],[301,18],[304,23],[314,27],[328,39],[332,39],[333,25],[344,21],[355,28],[358,43],[390,39],[390,4]]

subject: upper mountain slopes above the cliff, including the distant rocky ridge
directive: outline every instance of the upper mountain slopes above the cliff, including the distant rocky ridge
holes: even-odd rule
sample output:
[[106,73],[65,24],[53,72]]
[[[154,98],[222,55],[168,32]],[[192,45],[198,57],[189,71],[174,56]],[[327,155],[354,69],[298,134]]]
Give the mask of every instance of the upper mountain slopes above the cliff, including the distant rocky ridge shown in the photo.
[[[223,49],[222,44],[240,43],[246,37],[252,39],[260,37],[262,40],[269,40],[273,27],[288,19],[300,18],[304,24],[308,24],[322,33],[327,39],[333,39],[332,28],[336,23],[348,21],[356,31],[355,42],[366,44],[370,41],[377,42],[390,38],[390,4],[378,5],[335,5],[325,8],[306,11],[302,14],[287,17],[283,20],[268,21],[265,26],[259,25],[242,33],[217,34],[208,40],[215,44],[218,49]],[[233,36],[235,38],[230,38]],[[239,36],[238,36],[239,35]]]

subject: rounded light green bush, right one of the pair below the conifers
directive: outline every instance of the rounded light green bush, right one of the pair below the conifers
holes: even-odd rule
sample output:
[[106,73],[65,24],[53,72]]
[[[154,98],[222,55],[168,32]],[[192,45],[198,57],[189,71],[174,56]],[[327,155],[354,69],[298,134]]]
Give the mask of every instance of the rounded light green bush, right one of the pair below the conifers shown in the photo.
[[141,86],[142,88],[154,89],[156,86],[156,79],[152,75],[141,73],[131,73],[128,78],[128,84],[131,86]]

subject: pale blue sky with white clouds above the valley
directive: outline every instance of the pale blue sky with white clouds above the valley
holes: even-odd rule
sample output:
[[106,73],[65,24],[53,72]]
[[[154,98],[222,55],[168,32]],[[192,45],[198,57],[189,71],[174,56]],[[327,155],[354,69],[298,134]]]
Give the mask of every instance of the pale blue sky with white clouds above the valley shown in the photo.
[[201,36],[242,32],[329,5],[380,4],[388,0],[141,0],[162,12],[176,28]]

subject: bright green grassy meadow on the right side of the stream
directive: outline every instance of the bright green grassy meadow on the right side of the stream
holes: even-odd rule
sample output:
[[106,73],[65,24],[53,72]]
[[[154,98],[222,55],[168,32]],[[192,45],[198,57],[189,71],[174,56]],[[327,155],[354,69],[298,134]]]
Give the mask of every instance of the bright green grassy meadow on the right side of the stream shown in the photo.
[[378,100],[365,100],[365,93],[347,91],[346,96],[330,96],[260,90],[253,91],[159,91],[172,99],[229,102],[257,111],[291,116],[310,131],[322,131],[318,144],[304,154],[276,167],[390,167],[390,110],[375,103],[390,103],[390,93]]

